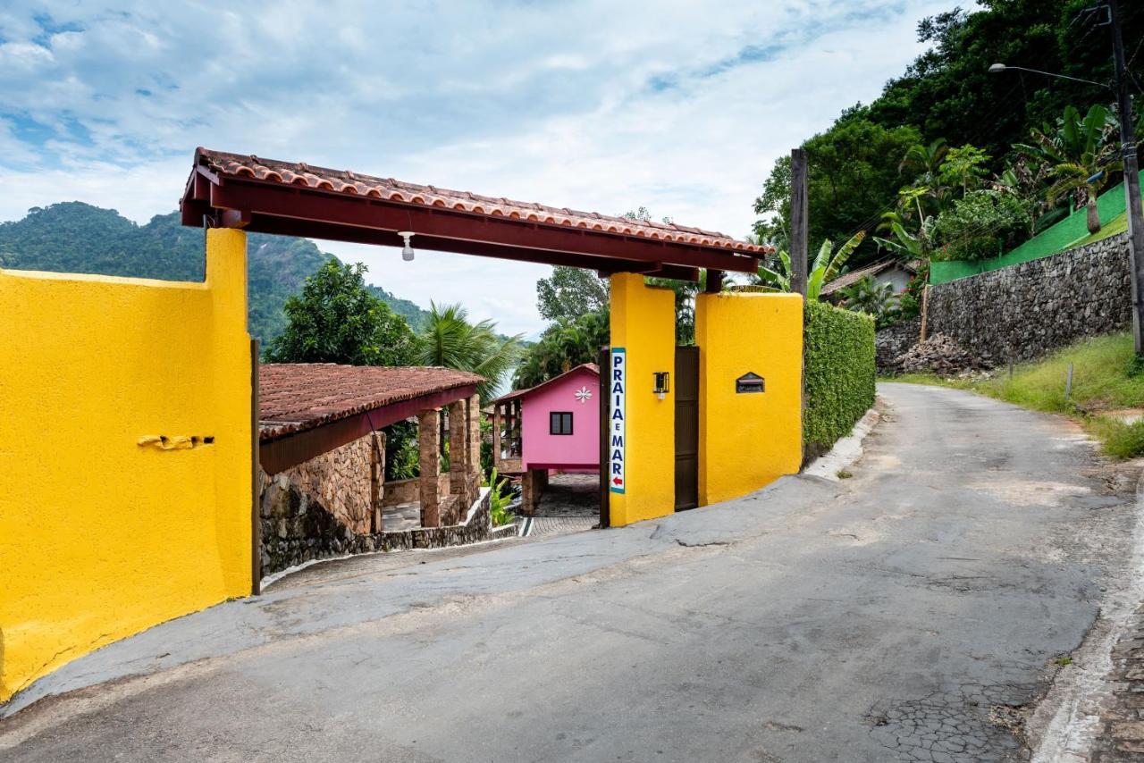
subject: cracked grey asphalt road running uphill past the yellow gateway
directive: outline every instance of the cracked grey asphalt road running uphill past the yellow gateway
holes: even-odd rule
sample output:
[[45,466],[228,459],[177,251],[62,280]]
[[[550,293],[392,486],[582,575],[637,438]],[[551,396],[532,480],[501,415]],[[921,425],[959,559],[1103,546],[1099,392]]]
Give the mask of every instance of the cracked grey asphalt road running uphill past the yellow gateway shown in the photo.
[[1022,760],[1134,485],[1063,420],[882,394],[852,478],[311,567],[67,666],[39,693],[116,681],[0,722],[0,758]]

